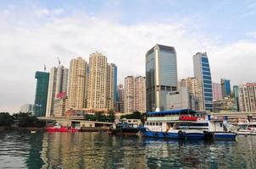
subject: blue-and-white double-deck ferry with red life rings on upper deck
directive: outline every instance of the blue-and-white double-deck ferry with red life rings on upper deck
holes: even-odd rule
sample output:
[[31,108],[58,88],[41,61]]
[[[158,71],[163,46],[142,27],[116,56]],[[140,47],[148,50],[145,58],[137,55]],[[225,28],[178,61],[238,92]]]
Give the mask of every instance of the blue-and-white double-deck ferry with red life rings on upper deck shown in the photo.
[[143,135],[166,139],[203,139],[208,131],[203,113],[190,109],[148,112]]

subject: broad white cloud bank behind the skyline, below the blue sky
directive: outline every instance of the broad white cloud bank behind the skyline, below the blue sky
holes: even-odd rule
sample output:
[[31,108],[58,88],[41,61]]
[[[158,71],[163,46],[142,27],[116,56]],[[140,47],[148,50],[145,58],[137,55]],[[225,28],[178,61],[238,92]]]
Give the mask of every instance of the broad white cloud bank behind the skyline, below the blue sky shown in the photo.
[[42,70],[44,63],[47,69],[56,66],[57,57],[69,67],[73,57],[88,62],[92,52],[102,52],[109,63],[116,63],[118,81],[123,83],[127,75],[145,75],[145,53],[156,43],[175,46],[179,79],[193,75],[193,54],[206,51],[214,81],[221,77],[233,83],[256,81],[255,43],[223,46],[218,35],[193,32],[186,21],[122,25],[82,12],[65,15],[63,9],[34,8],[32,14],[10,22],[15,16],[0,12],[0,111],[17,112],[25,102],[33,103],[36,70]]

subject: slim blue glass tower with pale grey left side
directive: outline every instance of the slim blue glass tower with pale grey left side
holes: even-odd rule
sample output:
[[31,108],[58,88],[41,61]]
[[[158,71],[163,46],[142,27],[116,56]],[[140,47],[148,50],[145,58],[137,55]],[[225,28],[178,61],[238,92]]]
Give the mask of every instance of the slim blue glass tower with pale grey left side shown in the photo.
[[194,75],[203,83],[203,103],[206,111],[213,112],[213,89],[209,59],[206,52],[198,52],[193,56]]

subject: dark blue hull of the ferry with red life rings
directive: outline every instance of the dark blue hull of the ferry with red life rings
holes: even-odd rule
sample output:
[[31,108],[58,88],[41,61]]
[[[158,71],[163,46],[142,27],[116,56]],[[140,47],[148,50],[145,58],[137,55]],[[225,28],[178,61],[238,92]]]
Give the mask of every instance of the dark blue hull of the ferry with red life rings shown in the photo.
[[165,132],[143,132],[145,137],[161,138],[161,139],[203,139],[203,133],[165,133]]

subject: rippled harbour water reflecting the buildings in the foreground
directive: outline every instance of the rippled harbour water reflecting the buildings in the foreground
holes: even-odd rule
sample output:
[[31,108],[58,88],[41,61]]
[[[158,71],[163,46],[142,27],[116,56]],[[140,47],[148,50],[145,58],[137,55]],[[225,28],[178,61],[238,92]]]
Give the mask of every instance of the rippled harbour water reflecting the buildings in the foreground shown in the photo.
[[256,136],[236,141],[108,133],[0,133],[0,168],[256,168]]

